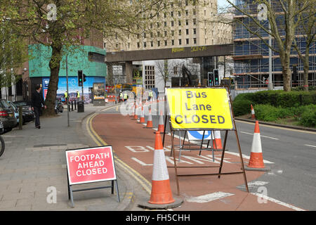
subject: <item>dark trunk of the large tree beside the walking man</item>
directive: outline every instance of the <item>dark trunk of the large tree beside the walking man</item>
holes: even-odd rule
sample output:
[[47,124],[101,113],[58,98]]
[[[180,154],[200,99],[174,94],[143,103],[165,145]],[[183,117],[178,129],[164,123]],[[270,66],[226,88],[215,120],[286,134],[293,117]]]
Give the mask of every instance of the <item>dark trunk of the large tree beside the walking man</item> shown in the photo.
[[[58,43],[61,43],[58,41]],[[51,77],[49,79],[48,91],[46,95],[44,115],[55,115],[55,100],[58,89],[58,75],[60,70],[60,61],[62,60],[62,44],[52,44],[52,55],[49,61]]]

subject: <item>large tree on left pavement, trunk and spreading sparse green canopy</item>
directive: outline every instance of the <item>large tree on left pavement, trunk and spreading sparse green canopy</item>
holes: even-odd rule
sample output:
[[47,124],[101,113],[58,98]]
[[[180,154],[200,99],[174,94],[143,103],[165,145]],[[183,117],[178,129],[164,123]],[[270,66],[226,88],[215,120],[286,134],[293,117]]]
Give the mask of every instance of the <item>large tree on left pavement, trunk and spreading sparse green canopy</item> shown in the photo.
[[[179,0],[180,1],[180,0]],[[193,2],[193,1],[192,1]],[[173,3],[172,3],[173,4]],[[170,8],[167,0],[1,0],[0,11],[19,27],[20,35],[51,48],[46,114],[54,114],[62,56],[82,40],[115,37],[117,31],[142,32],[148,19]],[[72,48],[71,48],[72,47]]]

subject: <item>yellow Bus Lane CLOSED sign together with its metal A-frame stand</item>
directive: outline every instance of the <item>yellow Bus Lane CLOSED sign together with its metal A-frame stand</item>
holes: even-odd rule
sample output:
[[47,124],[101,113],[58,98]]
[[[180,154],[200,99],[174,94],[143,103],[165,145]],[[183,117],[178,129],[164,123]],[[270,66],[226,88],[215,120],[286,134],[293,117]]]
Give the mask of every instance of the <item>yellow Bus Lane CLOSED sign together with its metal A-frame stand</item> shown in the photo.
[[[234,113],[232,112],[232,100],[228,86],[214,86],[214,87],[185,87],[185,88],[166,88],[166,101],[167,101],[167,115],[164,120],[164,129],[166,123],[169,121],[171,130],[171,153],[173,153],[174,169],[176,174],[176,185],[178,195],[180,195],[179,176],[206,176],[206,175],[221,175],[225,174],[242,174],[244,176],[244,184],[246,191],[249,192],[248,184],[246,181],[246,172],[244,169],[244,161],[242,158],[242,149],[240,147],[237,127],[235,124]],[[174,132],[175,131],[225,131],[225,139],[223,144],[222,157],[219,166],[209,166],[218,168],[217,173],[209,174],[178,174],[178,169],[188,168],[179,167],[176,160],[176,151],[174,150]],[[239,151],[239,158],[241,163],[241,171],[236,172],[222,172],[223,159],[225,155],[225,146],[228,137],[228,131],[235,131],[237,148]],[[164,146],[163,138],[163,146]],[[184,140],[184,139],[183,139]],[[204,134],[202,136],[202,143],[204,141]],[[201,150],[195,149],[195,150]],[[185,150],[182,148],[182,150]],[[190,150],[190,149],[187,149]],[[180,152],[180,151],[179,151]],[[179,155],[180,157],[180,155]],[[199,167],[192,166],[190,168],[199,169]]]

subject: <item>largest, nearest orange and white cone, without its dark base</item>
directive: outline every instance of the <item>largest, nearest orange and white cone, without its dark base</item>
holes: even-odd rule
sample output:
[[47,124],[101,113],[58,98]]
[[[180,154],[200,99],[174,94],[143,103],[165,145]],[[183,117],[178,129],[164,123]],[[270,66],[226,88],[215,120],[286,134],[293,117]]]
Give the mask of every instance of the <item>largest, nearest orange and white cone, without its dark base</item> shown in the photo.
[[162,137],[160,136],[160,132],[155,132],[155,134],[152,192],[148,203],[160,205],[169,204],[175,202],[175,200],[172,197],[166,158],[164,148],[162,147]]

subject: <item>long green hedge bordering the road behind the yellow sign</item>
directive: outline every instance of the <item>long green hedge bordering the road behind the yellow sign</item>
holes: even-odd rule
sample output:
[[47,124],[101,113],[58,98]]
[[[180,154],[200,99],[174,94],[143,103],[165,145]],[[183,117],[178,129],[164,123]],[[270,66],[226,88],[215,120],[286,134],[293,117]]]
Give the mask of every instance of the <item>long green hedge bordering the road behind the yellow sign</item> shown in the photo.
[[292,117],[304,127],[315,127],[316,91],[258,91],[239,94],[232,102],[235,116],[250,113],[251,104],[258,120],[276,122]]

